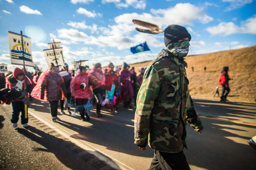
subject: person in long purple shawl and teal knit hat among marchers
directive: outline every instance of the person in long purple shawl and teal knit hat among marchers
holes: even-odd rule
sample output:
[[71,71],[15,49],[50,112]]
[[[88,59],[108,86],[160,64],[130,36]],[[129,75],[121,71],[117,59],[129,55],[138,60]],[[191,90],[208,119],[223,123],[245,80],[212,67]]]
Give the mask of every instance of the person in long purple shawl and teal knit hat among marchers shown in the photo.
[[121,76],[121,101],[124,103],[124,108],[132,108],[130,104],[134,93],[131,85],[131,73],[129,71],[128,64],[125,62],[123,63],[122,67],[123,68],[119,73]]

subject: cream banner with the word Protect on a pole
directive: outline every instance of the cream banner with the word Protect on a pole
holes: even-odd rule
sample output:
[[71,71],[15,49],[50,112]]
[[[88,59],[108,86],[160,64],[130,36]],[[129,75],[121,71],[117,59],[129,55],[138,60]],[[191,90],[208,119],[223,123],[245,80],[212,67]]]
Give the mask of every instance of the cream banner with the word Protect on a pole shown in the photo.
[[[49,68],[51,63],[53,63],[55,66],[58,66],[59,70],[62,70],[65,67],[63,55],[62,55],[62,47],[54,48],[54,49],[46,49],[46,50],[43,50],[43,52]],[[55,52],[55,55],[54,55],[54,52]]]

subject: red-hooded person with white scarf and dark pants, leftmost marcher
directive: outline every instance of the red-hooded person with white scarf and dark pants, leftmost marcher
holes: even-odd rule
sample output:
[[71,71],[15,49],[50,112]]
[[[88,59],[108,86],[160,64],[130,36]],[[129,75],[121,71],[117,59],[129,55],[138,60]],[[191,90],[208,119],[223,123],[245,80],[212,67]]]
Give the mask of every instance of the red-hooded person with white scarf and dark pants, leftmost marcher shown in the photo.
[[14,68],[13,74],[10,74],[7,77],[6,88],[18,88],[20,89],[21,96],[16,100],[11,101],[12,105],[12,116],[11,122],[13,127],[17,127],[17,122],[19,120],[19,114],[21,112],[21,124],[24,127],[28,125],[28,93],[31,93],[32,84],[27,76],[25,76],[25,72],[20,68]]

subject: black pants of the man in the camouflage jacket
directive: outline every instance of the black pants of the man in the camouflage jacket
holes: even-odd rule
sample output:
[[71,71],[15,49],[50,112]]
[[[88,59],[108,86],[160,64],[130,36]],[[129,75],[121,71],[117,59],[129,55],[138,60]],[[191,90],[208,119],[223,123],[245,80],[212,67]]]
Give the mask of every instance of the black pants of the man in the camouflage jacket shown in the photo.
[[191,170],[183,151],[179,153],[154,151],[148,170]]

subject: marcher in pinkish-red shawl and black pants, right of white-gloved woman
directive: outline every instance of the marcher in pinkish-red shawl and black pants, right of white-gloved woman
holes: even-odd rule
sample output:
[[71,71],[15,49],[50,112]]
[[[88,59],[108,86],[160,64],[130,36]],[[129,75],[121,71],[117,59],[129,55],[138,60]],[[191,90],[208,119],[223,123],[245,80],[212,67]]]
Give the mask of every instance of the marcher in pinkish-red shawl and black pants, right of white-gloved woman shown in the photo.
[[98,117],[102,117],[100,110],[101,110],[101,103],[103,99],[103,95],[106,91],[105,85],[105,73],[104,70],[101,68],[100,63],[94,64],[94,68],[89,72],[89,77],[91,77],[94,81],[97,81],[97,85],[92,85],[93,94],[97,100],[96,103],[96,114]]

